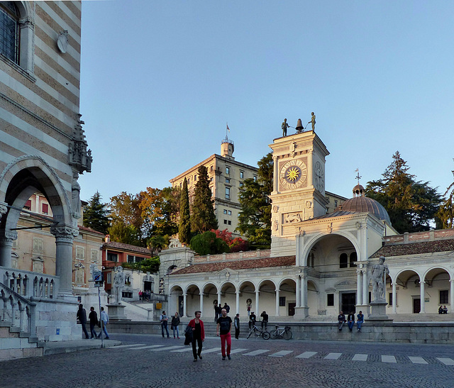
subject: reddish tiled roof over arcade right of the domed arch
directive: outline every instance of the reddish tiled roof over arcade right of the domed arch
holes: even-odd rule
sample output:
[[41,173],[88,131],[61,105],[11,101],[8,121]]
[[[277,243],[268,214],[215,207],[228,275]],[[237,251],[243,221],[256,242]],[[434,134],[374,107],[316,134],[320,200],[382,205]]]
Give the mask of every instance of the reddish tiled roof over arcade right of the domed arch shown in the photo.
[[421,243],[384,245],[370,257],[421,255],[423,253],[454,251],[454,239],[422,241]]

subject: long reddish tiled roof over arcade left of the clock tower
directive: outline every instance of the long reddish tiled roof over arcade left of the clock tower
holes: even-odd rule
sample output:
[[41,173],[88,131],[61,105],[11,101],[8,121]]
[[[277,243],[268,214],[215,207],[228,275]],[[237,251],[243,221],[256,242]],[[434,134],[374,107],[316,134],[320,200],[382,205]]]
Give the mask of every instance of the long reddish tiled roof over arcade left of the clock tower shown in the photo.
[[229,268],[231,270],[250,270],[253,268],[285,267],[288,265],[295,265],[295,263],[295,256],[267,257],[265,259],[234,260],[222,262],[204,262],[201,264],[189,265],[189,267],[182,268],[182,270],[172,272],[171,275],[195,274],[199,272],[218,272],[225,268]]

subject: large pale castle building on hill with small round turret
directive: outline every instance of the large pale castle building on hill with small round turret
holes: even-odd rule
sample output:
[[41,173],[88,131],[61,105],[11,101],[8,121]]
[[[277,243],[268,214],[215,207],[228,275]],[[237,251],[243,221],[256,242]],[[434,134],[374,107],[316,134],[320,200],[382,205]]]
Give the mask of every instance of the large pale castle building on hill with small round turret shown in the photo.
[[211,181],[210,188],[214,199],[214,213],[218,219],[218,228],[222,231],[228,229],[234,237],[238,237],[239,233],[235,231],[240,212],[238,194],[243,187],[244,179],[258,179],[258,168],[236,161],[233,157],[234,149],[233,141],[226,136],[221,142],[221,155],[211,155],[189,170],[170,179],[170,183],[172,187],[182,188],[184,178],[186,178],[189,203],[192,204],[198,169],[201,165],[204,165],[208,169],[208,177]]

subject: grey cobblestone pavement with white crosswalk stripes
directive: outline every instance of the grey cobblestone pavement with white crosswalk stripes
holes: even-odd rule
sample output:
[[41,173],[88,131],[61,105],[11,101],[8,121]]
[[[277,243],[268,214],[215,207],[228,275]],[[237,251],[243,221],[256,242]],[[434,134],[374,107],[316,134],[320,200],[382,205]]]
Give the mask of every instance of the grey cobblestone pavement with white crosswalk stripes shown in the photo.
[[0,387],[454,387],[454,345],[206,338],[193,362],[183,339],[112,334],[123,345],[0,363]]

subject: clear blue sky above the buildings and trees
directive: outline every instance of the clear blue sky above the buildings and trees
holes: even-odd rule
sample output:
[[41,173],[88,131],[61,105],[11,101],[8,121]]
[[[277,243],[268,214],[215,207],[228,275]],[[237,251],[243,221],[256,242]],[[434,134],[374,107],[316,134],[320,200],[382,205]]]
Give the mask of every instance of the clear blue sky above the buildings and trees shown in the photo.
[[[226,136],[266,155],[316,113],[326,189],[351,197],[399,150],[416,179],[453,182],[451,1],[82,2],[81,113],[94,162],[82,199],[169,186]],[[289,132],[292,133],[292,132]]]

